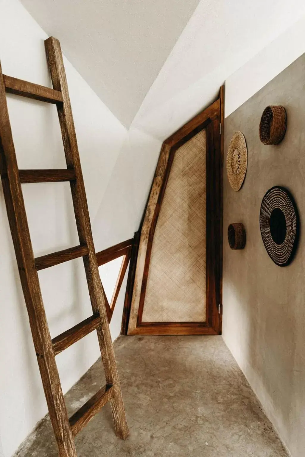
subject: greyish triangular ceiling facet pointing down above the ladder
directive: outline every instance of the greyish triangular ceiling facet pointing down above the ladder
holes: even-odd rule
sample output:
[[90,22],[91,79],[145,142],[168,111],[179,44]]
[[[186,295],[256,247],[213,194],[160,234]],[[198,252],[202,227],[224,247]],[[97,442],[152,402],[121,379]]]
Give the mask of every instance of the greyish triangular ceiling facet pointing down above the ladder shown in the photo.
[[21,0],[129,127],[199,0]]

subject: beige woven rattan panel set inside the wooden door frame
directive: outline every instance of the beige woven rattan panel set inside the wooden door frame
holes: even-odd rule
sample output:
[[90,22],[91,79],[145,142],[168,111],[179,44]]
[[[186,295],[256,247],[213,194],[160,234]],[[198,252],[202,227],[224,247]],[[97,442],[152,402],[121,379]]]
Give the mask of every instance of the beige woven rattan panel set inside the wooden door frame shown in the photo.
[[206,135],[177,149],[152,242],[142,322],[204,322]]

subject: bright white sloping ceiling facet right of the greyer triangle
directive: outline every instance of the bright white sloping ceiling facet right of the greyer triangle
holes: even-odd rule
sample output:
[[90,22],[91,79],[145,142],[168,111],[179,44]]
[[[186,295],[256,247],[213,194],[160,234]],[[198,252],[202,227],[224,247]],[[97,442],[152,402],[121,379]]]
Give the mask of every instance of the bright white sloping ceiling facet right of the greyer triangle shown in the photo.
[[[132,127],[163,141],[214,101],[230,75],[287,30],[287,45],[277,61],[289,54],[289,37],[293,43],[296,21],[303,15],[304,0],[289,0],[289,8],[287,0],[201,0]],[[258,71],[265,70],[261,66]],[[243,84],[251,86],[251,81]]]

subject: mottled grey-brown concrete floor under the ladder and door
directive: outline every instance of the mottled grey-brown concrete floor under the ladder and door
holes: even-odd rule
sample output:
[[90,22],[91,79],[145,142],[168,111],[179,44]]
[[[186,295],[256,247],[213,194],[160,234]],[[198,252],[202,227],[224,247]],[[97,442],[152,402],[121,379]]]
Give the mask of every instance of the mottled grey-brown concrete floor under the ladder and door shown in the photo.
[[[76,436],[78,456],[288,456],[221,336],[122,336],[114,347],[130,435],[115,436],[107,404]],[[69,414],[103,381],[97,361],[66,395]],[[48,417],[18,453],[36,456],[58,456]]]

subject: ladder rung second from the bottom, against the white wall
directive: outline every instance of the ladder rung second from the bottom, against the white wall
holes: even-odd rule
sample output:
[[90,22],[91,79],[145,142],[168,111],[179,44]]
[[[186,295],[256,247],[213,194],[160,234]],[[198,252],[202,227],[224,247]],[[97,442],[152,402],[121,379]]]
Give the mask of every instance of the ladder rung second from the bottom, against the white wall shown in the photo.
[[71,329],[66,330],[65,332],[53,338],[52,343],[55,351],[55,356],[67,349],[72,344],[76,343],[76,341],[81,340],[81,338],[84,338],[84,336],[93,332],[93,330],[96,330],[100,325],[100,316],[93,314],[93,316],[88,317],[79,324],[76,324]]

